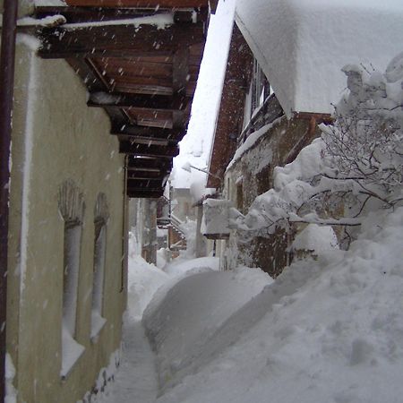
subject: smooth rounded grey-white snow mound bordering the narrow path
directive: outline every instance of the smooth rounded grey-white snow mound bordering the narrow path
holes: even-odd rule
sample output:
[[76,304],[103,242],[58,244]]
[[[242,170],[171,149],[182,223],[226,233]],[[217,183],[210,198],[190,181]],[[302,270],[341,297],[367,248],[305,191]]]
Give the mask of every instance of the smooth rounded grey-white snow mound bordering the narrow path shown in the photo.
[[160,385],[179,382],[200,364],[219,327],[270,281],[258,269],[210,270],[181,279],[162,298],[158,292],[143,323],[158,354]]

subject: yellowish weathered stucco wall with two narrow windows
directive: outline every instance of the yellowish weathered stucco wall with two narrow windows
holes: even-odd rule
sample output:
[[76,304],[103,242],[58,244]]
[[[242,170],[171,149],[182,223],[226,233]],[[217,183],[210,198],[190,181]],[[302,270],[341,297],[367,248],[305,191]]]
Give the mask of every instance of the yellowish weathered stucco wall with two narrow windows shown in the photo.
[[[100,109],[68,64],[42,60],[20,44],[16,59],[11,183],[8,350],[18,378],[18,401],[76,402],[120,346],[126,293],[124,158]],[[61,320],[64,220],[58,190],[73,179],[85,201],[81,236],[76,339],[85,351],[64,380]],[[94,207],[105,193],[110,213],[103,316],[90,339],[94,267]]]

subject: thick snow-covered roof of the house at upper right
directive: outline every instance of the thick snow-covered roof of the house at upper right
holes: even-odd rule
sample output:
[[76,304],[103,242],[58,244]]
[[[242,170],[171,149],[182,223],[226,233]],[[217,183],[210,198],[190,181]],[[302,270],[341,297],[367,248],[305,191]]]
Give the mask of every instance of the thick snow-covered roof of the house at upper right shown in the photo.
[[401,0],[238,0],[236,22],[288,116],[332,112],[345,64],[384,71],[403,50]]

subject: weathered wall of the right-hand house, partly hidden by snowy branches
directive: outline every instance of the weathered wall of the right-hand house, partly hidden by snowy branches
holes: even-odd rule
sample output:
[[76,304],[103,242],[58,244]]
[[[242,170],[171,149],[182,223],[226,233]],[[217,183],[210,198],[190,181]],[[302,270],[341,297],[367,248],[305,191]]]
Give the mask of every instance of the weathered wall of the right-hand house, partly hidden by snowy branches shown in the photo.
[[[296,151],[318,134],[318,129],[308,120],[279,119],[227,170],[225,197],[233,201],[237,210],[246,213],[255,197],[272,187],[274,167],[290,162]],[[226,268],[234,268],[237,264],[260,267],[276,277],[287,265],[288,242],[283,233],[244,239],[232,231],[229,241],[220,244],[223,265]]]

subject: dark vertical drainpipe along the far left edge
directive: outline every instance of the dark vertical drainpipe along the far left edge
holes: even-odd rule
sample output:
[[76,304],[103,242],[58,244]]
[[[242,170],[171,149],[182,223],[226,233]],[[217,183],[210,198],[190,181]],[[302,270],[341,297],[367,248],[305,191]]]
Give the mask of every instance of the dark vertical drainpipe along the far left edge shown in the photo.
[[7,249],[9,161],[12,132],[17,0],[4,0],[0,55],[0,401],[5,398],[5,323],[7,304]]

